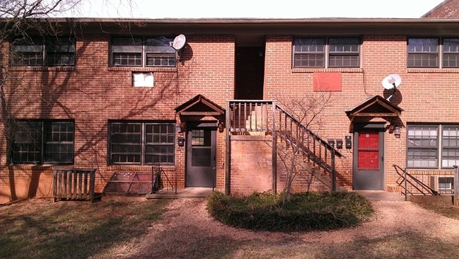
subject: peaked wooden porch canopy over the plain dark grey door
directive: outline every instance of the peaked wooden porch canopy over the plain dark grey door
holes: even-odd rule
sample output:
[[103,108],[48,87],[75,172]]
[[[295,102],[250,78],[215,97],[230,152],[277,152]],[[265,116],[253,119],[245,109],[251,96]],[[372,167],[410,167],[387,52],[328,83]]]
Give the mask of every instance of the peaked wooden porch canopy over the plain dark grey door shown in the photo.
[[224,119],[225,109],[201,94],[198,94],[175,108],[175,113],[178,113],[180,116],[213,116],[222,120]]

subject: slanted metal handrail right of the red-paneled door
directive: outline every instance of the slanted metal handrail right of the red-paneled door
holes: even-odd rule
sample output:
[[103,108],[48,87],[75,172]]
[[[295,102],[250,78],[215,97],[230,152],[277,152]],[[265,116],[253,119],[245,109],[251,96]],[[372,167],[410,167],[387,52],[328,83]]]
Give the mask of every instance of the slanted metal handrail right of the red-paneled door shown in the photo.
[[[405,200],[407,200],[408,194],[409,195],[415,194],[411,190],[417,190],[416,194],[440,195],[439,192],[430,188],[429,185],[426,185],[421,180],[417,179],[416,177],[408,173],[406,169],[403,169],[400,166],[397,166],[395,164],[393,164],[393,167],[395,168],[397,175],[399,175],[399,177],[397,178],[395,182],[397,183],[397,185],[399,185],[402,188],[402,190],[405,190],[405,191],[402,191],[402,194],[405,195]],[[408,186],[410,188],[408,188]]]

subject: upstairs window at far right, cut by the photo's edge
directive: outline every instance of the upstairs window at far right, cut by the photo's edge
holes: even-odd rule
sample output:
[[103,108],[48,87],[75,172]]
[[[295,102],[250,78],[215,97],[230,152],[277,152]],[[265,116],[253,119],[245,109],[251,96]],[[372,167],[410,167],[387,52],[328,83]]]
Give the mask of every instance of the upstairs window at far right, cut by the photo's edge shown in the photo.
[[459,38],[408,38],[407,59],[407,67],[459,67]]

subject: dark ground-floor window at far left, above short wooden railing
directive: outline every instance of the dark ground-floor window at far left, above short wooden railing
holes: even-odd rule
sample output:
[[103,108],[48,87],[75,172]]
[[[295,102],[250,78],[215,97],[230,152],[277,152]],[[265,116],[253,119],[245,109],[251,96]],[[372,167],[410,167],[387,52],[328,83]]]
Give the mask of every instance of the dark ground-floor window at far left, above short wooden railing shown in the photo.
[[74,122],[21,121],[12,141],[13,163],[74,163]]

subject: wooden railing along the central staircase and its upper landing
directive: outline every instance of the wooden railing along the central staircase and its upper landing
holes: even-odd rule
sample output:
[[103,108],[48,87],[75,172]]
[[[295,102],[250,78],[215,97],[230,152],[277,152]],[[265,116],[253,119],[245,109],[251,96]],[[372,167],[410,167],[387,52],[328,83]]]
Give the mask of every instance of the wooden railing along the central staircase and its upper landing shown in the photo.
[[[341,158],[342,154],[274,100],[229,100],[226,112],[230,134],[265,132],[272,134],[273,139],[279,137],[301,151],[307,161],[327,172],[331,178],[330,188],[337,190],[335,158]],[[277,149],[275,141],[272,147]]]

